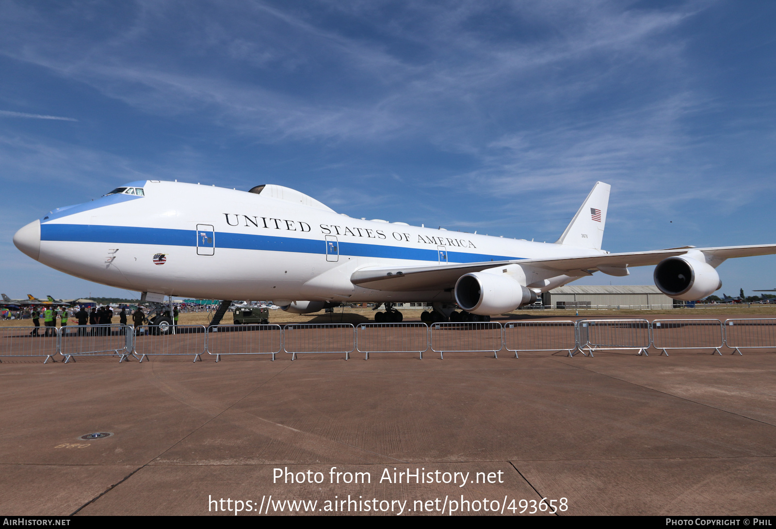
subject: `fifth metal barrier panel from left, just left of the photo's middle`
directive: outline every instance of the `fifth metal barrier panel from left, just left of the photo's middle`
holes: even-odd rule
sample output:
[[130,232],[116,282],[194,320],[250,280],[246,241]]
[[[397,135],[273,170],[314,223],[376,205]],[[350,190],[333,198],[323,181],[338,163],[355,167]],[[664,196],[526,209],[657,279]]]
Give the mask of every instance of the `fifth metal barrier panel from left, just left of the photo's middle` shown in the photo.
[[296,360],[297,354],[345,353],[355,351],[355,327],[352,323],[300,323],[283,327],[283,351]]

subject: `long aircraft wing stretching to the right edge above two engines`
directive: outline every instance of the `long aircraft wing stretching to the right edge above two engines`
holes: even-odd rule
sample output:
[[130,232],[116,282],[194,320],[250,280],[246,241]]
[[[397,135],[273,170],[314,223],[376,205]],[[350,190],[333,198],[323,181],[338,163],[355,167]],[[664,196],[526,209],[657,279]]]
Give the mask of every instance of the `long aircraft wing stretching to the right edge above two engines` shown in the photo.
[[[353,272],[351,282],[367,289],[393,292],[452,289],[462,275],[504,265],[531,265],[557,271],[558,275],[590,275],[598,267],[623,269],[628,266],[656,265],[663,259],[688,251],[702,251],[717,258],[741,258],[753,255],[776,254],[776,244],[754,246],[726,246],[709,248],[669,248],[667,250],[624,252],[621,254],[584,255],[579,257],[514,259],[510,261],[483,261],[451,265],[421,265],[362,268]],[[616,274],[615,274],[616,275]]]

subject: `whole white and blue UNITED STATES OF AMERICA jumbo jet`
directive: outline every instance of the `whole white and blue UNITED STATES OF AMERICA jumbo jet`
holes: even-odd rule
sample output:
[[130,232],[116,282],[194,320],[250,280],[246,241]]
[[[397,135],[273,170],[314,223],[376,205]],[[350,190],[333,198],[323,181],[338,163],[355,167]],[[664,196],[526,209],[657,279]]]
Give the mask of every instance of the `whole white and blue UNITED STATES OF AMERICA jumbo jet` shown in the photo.
[[776,253],[765,244],[610,254],[601,250],[609,189],[594,185],[549,244],[352,219],[280,185],[242,192],[154,180],[56,209],[13,240],[51,268],[151,302],[272,299],[295,313],[385,303],[378,320],[399,320],[394,302],[431,302],[436,321],[508,313],[594,271],[622,276],[630,266],[656,265],[661,292],[701,299],[721,287],[722,261]]

